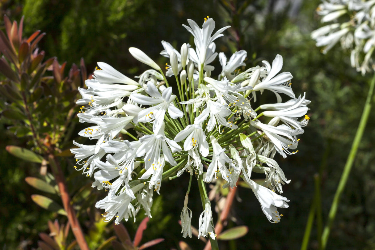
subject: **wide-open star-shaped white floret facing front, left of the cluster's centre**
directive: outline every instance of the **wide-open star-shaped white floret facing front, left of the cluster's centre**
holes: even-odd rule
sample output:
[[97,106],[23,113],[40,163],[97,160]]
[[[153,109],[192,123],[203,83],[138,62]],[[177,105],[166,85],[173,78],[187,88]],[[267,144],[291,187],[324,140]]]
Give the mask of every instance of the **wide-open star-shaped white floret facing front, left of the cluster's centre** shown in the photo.
[[147,83],[145,92],[150,96],[133,93],[131,98],[133,101],[142,105],[157,105],[139,111],[133,119],[135,123],[153,122],[153,131],[154,133],[158,133],[162,127],[164,115],[167,109],[172,119],[177,119],[177,117],[183,116],[182,111],[172,104],[173,100],[176,98],[176,95],[172,95],[172,87],[166,88],[160,95],[159,90],[157,90],[154,84]]

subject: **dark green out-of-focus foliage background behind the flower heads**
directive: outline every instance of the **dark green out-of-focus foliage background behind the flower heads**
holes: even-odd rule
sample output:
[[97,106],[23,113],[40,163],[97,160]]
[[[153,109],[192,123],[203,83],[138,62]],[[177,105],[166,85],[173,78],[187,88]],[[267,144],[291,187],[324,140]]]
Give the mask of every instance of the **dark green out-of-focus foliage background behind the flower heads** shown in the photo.
[[[128,76],[139,75],[146,67],[130,56],[129,47],[140,48],[163,65],[167,61],[159,55],[163,49],[160,41],[168,41],[177,48],[184,42],[193,44],[192,36],[181,24],[187,24],[187,18],[201,24],[207,15],[214,18],[216,27],[232,26],[224,38],[216,40],[217,51],[229,56],[236,50],[246,50],[248,65],[260,65],[261,60],[271,62],[276,54],[281,54],[283,71],[294,76],[294,92],[296,95],[306,92],[306,98],[312,101],[308,112],[311,119],[300,137],[299,153],[287,159],[279,155],[275,158],[291,179],[283,193],[291,200],[290,207],[282,209],[281,223],[271,224],[252,191],[239,187],[231,213],[233,221],[228,227],[247,225],[249,232],[239,241],[221,242],[220,249],[283,250],[301,246],[314,196],[314,175],[318,173],[326,221],[372,77],[352,69],[349,55],[341,48],[334,47],[323,55],[315,47],[310,33],[321,25],[315,13],[319,3],[319,0],[1,0],[0,11],[1,16],[6,14],[10,20],[19,21],[24,15],[25,35],[35,30],[46,32],[39,43],[46,52],[45,58],[56,56],[59,62],[66,61],[69,68],[72,63],[79,64],[83,57],[89,72],[95,69],[96,62],[106,62]],[[0,20],[3,29],[3,19]],[[268,103],[275,101],[274,96],[266,93],[262,99]],[[327,249],[375,249],[374,115],[375,109],[341,199]],[[6,145],[27,147],[28,143],[10,133],[8,126],[6,122],[0,126],[0,247],[37,248],[38,233],[48,233],[47,221],[57,219],[66,223],[66,218],[40,208],[31,200],[31,194],[42,192],[30,187],[24,179],[38,176],[39,166],[5,151]],[[65,168],[72,195],[91,185],[89,178],[74,172],[73,162],[73,158],[68,159]],[[153,218],[142,242],[154,238],[165,241],[150,249],[178,249],[178,241],[184,240],[178,220],[188,181],[184,175],[163,182],[160,195],[154,196]],[[90,238],[90,248],[95,249],[113,235],[113,223],[102,223],[96,216],[102,212],[95,209],[101,193],[90,192],[94,194],[85,196],[86,203],[81,204],[85,212],[79,216]],[[192,224],[197,227],[202,208],[195,185],[190,193]],[[123,223],[131,236],[144,217],[139,214],[135,224]],[[314,224],[309,249],[317,249],[316,232]],[[204,247],[196,237],[186,242],[192,249]]]

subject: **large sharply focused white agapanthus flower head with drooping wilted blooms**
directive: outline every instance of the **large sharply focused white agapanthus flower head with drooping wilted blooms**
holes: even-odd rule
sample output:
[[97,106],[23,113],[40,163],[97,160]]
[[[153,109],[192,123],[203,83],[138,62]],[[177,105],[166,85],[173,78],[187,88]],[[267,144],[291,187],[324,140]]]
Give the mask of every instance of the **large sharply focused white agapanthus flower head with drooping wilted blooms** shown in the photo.
[[[224,188],[235,187],[242,178],[268,220],[276,223],[282,216],[277,208],[287,208],[289,202],[278,193],[290,181],[272,158],[276,153],[285,158],[298,152],[297,136],[308,124],[310,101],[305,94],[296,98],[292,75],[280,72],[280,55],[272,64],[263,61],[264,66],[245,68],[246,51],[237,51],[229,60],[216,52],[213,41],[229,26],[213,33],[211,18],[205,18],[202,28],[187,21],[190,27],[184,27],[194,36],[195,48],[183,44],[178,51],[162,41],[160,54],[169,58],[166,73],[137,48],[129,48],[132,56],[151,67],[138,81],[98,63],[100,69],[86,81],[87,89],[79,89],[82,99],[77,101],[80,121],[91,123],[79,134],[95,143],[74,142],[75,168],[93,176],[93,187],[108,190],[107,197],[96,203],[105,210],[105,221],[128,220],[141,208],[151,217],[153,193],[159,194],[165,179],[187,173],[206,183],[220,178],[226,182]],[[217,55],[222,69],[213,78],[210,64]],[[172,77],[173,88],[166,77]],[[275,93],[277,103],[253,109],[264,91]],[[282,102],[281,94],[288,101]],[[264,173],[263,185],[251,179],[252,172]],[[205,202],[199,236],[214,238],[205,193],[201,193]],[[187,203],[186,196],[182,233],[191,237],[192,211]]]

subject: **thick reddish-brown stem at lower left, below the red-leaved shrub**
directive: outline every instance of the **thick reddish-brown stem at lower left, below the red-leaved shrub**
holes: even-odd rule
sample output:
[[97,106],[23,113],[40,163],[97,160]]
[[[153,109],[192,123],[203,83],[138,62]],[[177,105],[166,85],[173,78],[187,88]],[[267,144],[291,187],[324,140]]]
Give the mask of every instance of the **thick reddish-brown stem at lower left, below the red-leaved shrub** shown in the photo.
[[78,218],[75,215],[75,211],[71,205],[71,199],[69,197],[68,189],[66,188],[65,178],[61,170],[60,164],[58,163],[53,154],[48,155],[48,160],[49,164],[51,165],[52,172],[55,176],[58,189],[60,190],[61,200],[63,202],[64,209],[68,214],[68,221],[72,228],[74,237],[77,240],[77,244],[81,250],[89,250],[89,246],[87,245],[80,223],[78,222]]

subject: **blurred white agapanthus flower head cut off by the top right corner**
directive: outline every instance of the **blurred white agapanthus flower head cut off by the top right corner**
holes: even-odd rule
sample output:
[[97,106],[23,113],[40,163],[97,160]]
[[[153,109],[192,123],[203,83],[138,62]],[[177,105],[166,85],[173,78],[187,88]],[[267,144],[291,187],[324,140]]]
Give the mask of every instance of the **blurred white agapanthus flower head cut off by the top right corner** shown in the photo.
[[375,1],[374,0],[323,0],[317,8],[326,23],[311,33],[317,46],[324,46],[325,54],[336,43],[351,51],[351,65],[357,71],[374,70],[372,54],[375,49]]

